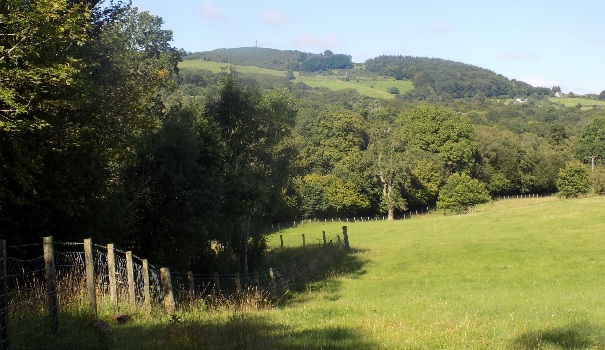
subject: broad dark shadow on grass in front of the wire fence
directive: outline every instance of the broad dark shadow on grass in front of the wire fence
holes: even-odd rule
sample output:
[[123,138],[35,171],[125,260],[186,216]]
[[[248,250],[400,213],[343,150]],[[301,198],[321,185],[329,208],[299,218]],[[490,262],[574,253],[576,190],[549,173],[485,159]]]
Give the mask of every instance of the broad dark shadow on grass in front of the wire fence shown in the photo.
[[178,322],[114,325],[114,334],[88,329],[57,337],[39,349],[377,349],[360,329],[343,326],[294,328],[246,313],[189,316]]

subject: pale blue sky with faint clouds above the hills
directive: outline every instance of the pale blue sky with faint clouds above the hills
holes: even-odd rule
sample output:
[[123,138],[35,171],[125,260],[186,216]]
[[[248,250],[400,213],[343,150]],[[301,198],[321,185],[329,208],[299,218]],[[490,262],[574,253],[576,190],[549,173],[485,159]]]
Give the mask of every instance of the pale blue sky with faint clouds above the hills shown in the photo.
[[605,89],[605,1],[133,0],[187,51],[259,47],[364,62],[440,57],[564,92]]

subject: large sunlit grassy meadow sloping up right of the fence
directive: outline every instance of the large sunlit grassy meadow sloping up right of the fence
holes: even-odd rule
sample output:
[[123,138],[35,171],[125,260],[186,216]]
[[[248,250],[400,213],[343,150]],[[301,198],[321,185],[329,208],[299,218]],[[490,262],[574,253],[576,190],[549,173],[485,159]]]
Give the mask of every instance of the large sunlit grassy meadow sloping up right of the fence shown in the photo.
[[[344,272],[277,308],[136,320],[117,326],[109,348],[601,349],[603,207],[605,196],[509,199],[470,215],[349,223],[356,253]],[[341,226],[305,225],[270,242]]]

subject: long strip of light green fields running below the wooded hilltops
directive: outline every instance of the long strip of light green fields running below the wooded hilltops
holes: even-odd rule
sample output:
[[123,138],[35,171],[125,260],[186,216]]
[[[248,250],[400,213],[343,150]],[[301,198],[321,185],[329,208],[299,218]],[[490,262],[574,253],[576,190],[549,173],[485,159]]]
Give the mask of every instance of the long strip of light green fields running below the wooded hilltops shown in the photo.
[[[229,66],[229,63],[221,63],[221,62],[212,62],[207,60],[183,60],[183,62],[178,63],[179,68],[198,68],[209,70],[212,73],[220,73],[221,67]],[[244,65],[234,65],[238,72],[241,73],[258,73],[258,74],[271,74],[273,76],[284,77],[286,72],[278,71],[278,70],[270,70],[267,68],[259,68],[257,66],[244,66]],[[413,83],[409,81],[400,81],[400,80],[386,80],[386,81],[369,81],[369,80],[359,80],[359,83],[355,81],[355,79],[351,79],[348,81],[342,81],[342,77],[335,76],[300,76],[298,72],[294,73],[296,76],[296,80],[294,82],[303,82],[309,86],[315,88],[316,86],[321,87],[325,86],[332,90],[341,90],[341,89],[356,89],[359,94],[368,95],[373,97],[382,97],[385,99],[391,99],[394,97],[393,94],[387,92],[387,89],[391,86],[396,86],[399,91],[403,94],[405,91],[411,90],[414,88]],[[373,85],[374,88],[370,88]]]

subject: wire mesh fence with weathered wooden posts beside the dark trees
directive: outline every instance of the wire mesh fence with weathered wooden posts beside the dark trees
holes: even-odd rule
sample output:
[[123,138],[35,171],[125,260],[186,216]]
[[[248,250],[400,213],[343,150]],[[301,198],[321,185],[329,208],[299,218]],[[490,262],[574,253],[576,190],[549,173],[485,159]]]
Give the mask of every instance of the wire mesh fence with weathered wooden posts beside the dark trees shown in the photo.
[[45,238],[42,244],[27,245],[39,251],[31,259],[11,256],[23,246],[7,247],[0,241],[0,350],[35,349],[47,339],[42,335],[109,320],[116,313],[164,313],[171,311],[171,303],[177,309],[212,308],[280,299],[348,249],[340,235],[332,234],[310,235],[302,253],[280,267],[212,275],[170,273],[113,244],[96,245],[88,239],[57,243]]

